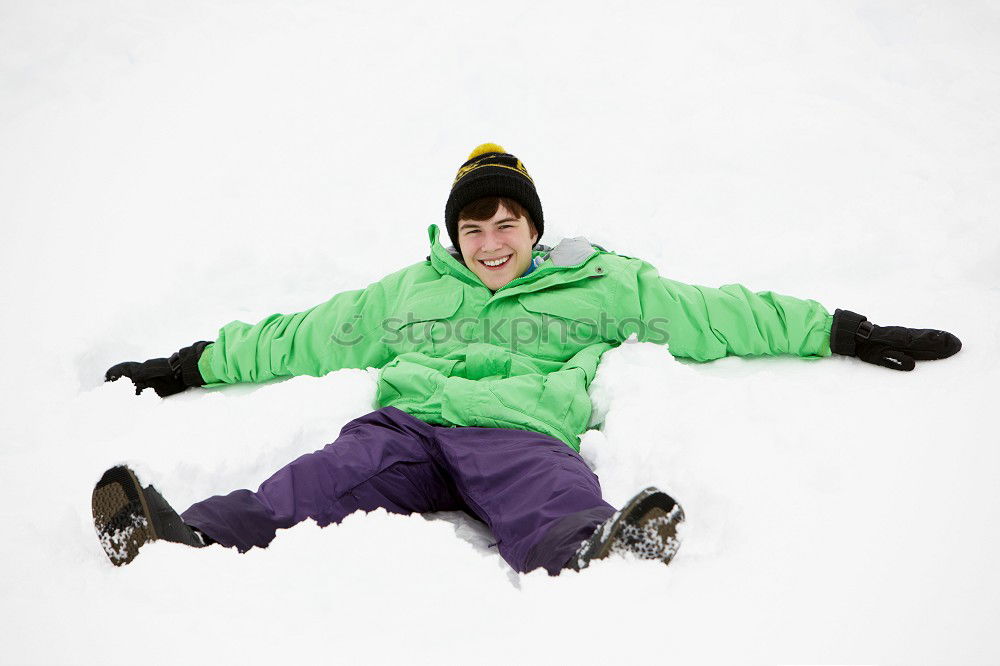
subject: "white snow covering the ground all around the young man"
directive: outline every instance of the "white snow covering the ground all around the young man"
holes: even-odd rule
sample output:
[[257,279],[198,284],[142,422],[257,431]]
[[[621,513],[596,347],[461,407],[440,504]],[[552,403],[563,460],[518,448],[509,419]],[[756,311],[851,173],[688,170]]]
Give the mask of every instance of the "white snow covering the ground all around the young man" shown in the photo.
[[[0,0],[0,662],[1000,663],[998,119],[989,2]],[[256,488],[374,383],[104,370],[422,260],[484,141],[549,243],[964,349],[607,354],[583,452],[612,503],[683,504],[669,567],[518,576],[469,520],[384,512],[111,566],[105,468],[178,509]]]

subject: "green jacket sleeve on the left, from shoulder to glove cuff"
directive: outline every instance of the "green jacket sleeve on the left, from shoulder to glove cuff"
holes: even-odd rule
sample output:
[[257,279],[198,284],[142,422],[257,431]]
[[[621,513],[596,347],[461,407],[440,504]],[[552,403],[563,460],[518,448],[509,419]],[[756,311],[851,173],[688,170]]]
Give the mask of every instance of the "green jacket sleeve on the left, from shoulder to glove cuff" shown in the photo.
[[385,300],[376,282],[304,312],[274,314],[253,325],[231,322],[205,348],[198,371],[212,385],[381,367],[392,356],[382,341]]

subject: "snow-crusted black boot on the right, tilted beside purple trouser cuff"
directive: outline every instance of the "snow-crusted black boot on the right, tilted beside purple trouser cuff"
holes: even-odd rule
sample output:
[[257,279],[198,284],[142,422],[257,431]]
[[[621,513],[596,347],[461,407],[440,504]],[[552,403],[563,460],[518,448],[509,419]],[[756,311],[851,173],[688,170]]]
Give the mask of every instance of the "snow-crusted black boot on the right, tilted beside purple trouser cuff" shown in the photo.
[[670,495],[646,488],[604,521],[580,545],[566,568],[586,569],[592,560],[602,560],[612,553],[632,553],[640,559],[670,564],[681,545],[677,526],[683,521],[684,510]]

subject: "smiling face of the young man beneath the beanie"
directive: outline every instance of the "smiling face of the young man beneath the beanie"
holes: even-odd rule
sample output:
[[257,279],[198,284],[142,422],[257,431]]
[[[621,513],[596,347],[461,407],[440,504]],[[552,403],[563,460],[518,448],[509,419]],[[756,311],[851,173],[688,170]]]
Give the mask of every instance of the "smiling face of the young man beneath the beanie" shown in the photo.
[[465,265],[490,291],[519,278],[531,263],[538,234],[523,217],[514,217],[503,204],[488,220],[459,220],[458,245]]

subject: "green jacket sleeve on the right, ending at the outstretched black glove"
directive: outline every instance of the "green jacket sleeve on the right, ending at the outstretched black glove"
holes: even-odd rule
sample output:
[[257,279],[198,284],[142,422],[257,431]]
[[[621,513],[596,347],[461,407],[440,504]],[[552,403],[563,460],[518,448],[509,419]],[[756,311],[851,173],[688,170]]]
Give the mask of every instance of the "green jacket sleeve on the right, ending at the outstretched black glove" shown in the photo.
[[661,277],[641,262],[637,273],[640,340],[666,342],[674,356],[829,356],[833,317],[812,300],[739,284],[719,288]]

